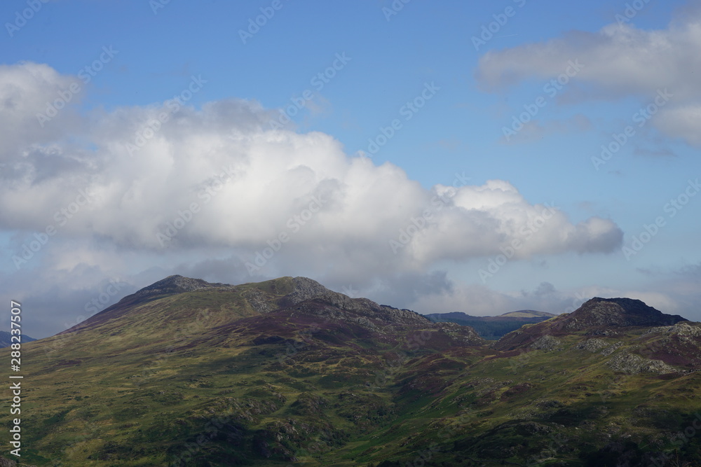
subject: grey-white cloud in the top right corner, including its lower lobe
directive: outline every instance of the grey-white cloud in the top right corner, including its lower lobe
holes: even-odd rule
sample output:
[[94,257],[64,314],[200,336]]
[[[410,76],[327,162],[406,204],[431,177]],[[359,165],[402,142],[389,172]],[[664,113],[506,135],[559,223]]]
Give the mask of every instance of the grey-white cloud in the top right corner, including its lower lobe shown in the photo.
[[480,58],[475,76],[482,88],[501,90],[527,78],[556,78],[571,61],[583,67],[561,102],[635,95],[649,103],[666,89],[673,97],[653,123],[669,136],[701,145],[701,8],[688,9],[666,29],[648,31],[620,22],[598,32],[573,31],[491,50]]

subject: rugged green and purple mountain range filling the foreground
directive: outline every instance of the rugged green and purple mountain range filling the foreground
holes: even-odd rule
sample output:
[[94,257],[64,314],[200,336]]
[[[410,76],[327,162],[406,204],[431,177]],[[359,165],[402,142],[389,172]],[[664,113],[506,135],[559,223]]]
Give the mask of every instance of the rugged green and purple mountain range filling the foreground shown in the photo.
[[488,342],[304,277],[171,276],[23,345],[22,363],[36,466],[701,459],[701,325],[637,300]]

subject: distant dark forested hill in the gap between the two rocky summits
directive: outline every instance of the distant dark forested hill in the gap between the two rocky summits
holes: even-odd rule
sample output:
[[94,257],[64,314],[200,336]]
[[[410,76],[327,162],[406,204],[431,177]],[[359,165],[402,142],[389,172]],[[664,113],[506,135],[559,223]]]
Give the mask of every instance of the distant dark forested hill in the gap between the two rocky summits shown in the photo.
[[517,330],[524,324],[535,324],[554,316],[546,312],[536,312],[532,309],[522,309],[517,312],[509,312],[500,316],[472,316],[463,312],[432,313],[426,315],[431,321],[437,323],[458,323],[462,326],[470,326],[481,337],[487,340],[497,340],[503,335]]

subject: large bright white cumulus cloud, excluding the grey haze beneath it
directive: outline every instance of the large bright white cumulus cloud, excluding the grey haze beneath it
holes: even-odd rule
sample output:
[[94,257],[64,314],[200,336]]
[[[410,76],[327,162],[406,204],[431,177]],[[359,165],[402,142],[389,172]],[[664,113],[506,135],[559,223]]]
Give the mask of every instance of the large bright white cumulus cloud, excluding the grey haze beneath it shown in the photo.
[[[24,73],[27,93],[65,85],[46,66],[3,71],[1,83]],[[34,110],[25,113],[34,118]],[[13,127],[3,128],[3,137],[16,141],[13,160],[21,162],[3,173],[0,225],[44,230],[55,223],[64,235],[151,252],[195,246],[255,252],[277,245],[283,234],[275,262],[301,256],[322,265],[334,255],[360,260],[362,270],[421,270],[489,255],[515,239],[524,241],[519,257],[609,252],[620,244],[612,221],[573,225],[562,211],[529,203],[507,181],[470,186],[458,177],[457,188],[425,190],[395,165],[349,158],[327,134],[266,130],[271,112],[255,102],[182,106],[154,124],[163,111],[93,114],[73,135],[82,144],[35,141],[31,132],[18,137]]]

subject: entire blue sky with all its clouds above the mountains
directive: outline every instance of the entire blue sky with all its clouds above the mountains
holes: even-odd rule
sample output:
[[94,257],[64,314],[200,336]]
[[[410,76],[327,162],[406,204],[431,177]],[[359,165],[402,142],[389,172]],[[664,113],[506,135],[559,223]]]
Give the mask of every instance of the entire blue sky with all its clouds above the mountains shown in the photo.
[[27,335],[170,274],[701,321],[699,1],[8,0],[0,20],[0,297]]

